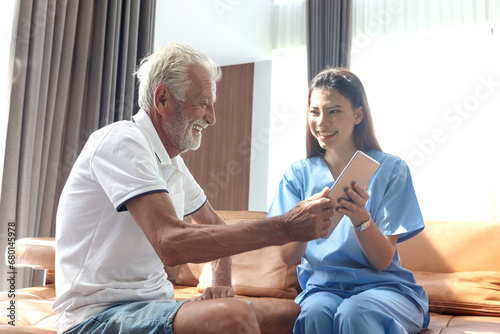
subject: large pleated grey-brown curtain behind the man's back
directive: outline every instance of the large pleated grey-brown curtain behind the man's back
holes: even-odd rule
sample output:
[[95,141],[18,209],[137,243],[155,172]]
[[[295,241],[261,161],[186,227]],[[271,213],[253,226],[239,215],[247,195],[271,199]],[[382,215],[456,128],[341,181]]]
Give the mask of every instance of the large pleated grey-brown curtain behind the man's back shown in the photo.
[[[149,0],[17,1],[0,251],[9,222],[16,238],[55,235],[58,198],[88,136],[136,112],[133,72],[152,51],[154,12]],[[17,270],[17,288],[39,283],[40,273]]]

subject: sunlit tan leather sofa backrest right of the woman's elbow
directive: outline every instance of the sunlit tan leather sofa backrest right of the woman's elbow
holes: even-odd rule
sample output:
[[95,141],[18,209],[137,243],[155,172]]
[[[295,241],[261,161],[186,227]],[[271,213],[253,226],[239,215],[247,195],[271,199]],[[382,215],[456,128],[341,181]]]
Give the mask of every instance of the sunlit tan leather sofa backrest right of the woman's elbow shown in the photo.
[[427,221],[398,251],[411,271],[500,271],[500,224]]

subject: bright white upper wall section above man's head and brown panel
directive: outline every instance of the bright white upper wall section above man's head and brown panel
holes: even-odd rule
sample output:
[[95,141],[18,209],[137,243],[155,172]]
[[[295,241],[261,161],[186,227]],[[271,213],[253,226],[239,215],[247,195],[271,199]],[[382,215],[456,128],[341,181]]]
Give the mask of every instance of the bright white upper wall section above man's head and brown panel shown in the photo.
[[270,0],[158,0],[154,44],[189,44],[219,65],[271,59]]

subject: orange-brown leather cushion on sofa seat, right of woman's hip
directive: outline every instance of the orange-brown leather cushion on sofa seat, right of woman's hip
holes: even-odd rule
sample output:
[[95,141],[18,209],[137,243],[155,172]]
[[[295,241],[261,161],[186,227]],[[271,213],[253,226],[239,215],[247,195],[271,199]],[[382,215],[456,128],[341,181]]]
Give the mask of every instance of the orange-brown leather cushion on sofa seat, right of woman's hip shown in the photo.
[[432,312],[500,316],[500,272],[415,272]]

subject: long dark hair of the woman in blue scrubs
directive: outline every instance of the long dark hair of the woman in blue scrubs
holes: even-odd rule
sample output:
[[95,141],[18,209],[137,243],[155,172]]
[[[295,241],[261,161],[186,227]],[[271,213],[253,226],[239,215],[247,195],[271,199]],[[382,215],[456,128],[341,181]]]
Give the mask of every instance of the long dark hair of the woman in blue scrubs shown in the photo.
[[[362,107],[363,120],[354,127],[354,145],[358,150],[367,152],[369,150],[382,151],[375,137],[372,116],[365,89],[359,78],[346,68],[326,68],[318,73],[309,84],[309,98],[307,100],[307,113],[309,118],[309,107],[311,105],[311,94],[315,89],[334,89],[342,96],[348,98],[354,109]],[[306,122],[306,150],[307,157],[324,155],[325,150],[321,148],[318,140],[312,135],[309,122]]]

